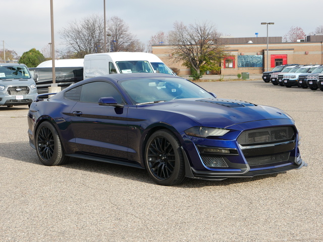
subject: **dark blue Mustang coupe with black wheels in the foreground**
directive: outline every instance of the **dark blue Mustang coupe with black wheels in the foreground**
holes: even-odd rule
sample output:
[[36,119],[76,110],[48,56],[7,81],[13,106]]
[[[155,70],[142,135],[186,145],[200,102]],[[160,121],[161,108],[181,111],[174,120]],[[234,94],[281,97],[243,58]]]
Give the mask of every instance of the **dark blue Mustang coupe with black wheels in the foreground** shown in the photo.
[[69,157],[146,168],[159,185],[299,169],[294,120],[280,109],[217,98],[165,74],[81,81],[28,112],[30,145],[44,165]]

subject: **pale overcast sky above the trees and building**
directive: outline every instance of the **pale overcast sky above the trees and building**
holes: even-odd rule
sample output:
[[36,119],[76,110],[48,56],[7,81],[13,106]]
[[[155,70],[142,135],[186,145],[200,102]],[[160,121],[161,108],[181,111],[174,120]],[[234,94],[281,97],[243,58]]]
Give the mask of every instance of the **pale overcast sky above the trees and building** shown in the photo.
[[[158,31],[168,32],[174,22],[185,25],[208,21],[223,35],[266,37],[261,22],[269,26],[269,36],[284,36],[292,26],[306,34],[323,25],[321,0],[105,0],[106,18],[118,16],[129,25],[130,32],[148,43]],[[2,0],[0,14],[0,49],[19,55],[31,48],[41,50],[51,42],[50,0]],[[93,14],[103,16],[103,0],[53,0],[55,45],[62,47],[59,31],[72,21]]]

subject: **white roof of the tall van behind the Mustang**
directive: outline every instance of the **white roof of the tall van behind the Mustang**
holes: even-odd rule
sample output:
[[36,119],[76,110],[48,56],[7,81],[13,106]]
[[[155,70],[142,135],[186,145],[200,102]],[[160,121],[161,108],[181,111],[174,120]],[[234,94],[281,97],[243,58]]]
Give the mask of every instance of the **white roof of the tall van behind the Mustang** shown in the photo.
[[[107,52],[107,53],[96,53],[96,54],[87,54],[85,56],[111,56],[114,61],[148,61],[148,62],[162,62],[156,55],[146,52]],[[117,58],[117,59],[116,59]]]

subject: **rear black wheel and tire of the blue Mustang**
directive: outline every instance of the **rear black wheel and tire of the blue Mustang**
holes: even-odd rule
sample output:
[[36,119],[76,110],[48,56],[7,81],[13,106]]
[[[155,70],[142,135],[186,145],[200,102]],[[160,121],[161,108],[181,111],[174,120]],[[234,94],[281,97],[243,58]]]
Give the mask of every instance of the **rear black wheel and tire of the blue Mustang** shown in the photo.
[[49,122],[39,125],[36,132],[36,152],[44,165],[61,165],[68,161],[65,156],[60,136]]

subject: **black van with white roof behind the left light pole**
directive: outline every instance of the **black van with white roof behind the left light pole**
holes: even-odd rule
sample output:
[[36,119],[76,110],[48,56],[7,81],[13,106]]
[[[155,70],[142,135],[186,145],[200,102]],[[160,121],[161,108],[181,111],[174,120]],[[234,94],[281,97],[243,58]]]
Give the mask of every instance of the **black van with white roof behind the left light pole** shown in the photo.
[[[52,61],[40,63],[36,68],[29,68],[36,82],[39,94],[48,93],[52,81]],[[71,84],[83,80],[83,59],[56,59],[55,83],[63,90]]]

